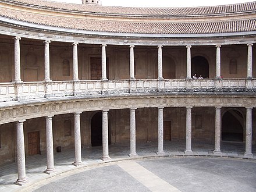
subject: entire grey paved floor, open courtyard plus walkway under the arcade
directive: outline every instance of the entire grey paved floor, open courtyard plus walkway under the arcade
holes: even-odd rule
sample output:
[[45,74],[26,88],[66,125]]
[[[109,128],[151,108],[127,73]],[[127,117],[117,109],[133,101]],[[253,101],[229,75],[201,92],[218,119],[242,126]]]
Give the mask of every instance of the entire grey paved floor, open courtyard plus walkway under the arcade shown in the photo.
[[[1,166],[1,191],[256,191],[256,151],[245,158],[244,144],[193,142],[193,154],[184,154],[184,141],[165,141],[159,156],[157,143],[137,144],[137,157],[128,156],[130,145],[110,145],[111,162],[99,159],[102,147],[82,149],[82,166],[73,166],[74,150],[54,154],[55,172],[47,175],[46,155],[26,157],[28,183],[17,180],[17,163]],[[227,158],[229,157],[229,158]]]

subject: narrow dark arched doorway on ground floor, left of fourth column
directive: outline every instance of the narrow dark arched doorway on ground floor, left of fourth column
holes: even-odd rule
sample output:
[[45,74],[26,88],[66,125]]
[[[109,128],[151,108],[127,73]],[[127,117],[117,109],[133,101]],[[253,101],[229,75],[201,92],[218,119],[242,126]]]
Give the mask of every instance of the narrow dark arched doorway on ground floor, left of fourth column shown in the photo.
[[91,146],[102,145],[102,112],[96,113],[91,119]]

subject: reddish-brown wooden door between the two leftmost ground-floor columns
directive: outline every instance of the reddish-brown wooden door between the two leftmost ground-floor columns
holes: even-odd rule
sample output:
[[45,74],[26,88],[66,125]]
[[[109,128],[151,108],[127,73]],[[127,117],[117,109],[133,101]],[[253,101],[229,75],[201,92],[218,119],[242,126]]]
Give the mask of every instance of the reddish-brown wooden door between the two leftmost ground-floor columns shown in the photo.
[[29,155],[40,154],[40,134],[39,131],[27,133],[29,143]]

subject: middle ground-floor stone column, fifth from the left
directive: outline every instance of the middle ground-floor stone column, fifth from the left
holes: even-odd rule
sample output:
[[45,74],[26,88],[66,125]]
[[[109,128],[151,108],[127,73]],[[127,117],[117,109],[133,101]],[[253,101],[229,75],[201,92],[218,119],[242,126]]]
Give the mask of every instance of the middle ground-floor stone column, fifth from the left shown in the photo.
[[137,156],[136,153],[136,108],[130,109],[130,157]]

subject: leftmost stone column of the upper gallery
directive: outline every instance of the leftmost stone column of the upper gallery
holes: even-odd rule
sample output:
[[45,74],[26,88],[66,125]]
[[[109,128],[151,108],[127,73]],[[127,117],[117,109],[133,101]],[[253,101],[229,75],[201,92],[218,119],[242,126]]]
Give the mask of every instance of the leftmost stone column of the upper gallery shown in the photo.
[[15,70],[15,83],[20,83],[20,37],[14,38],[14,70]]

